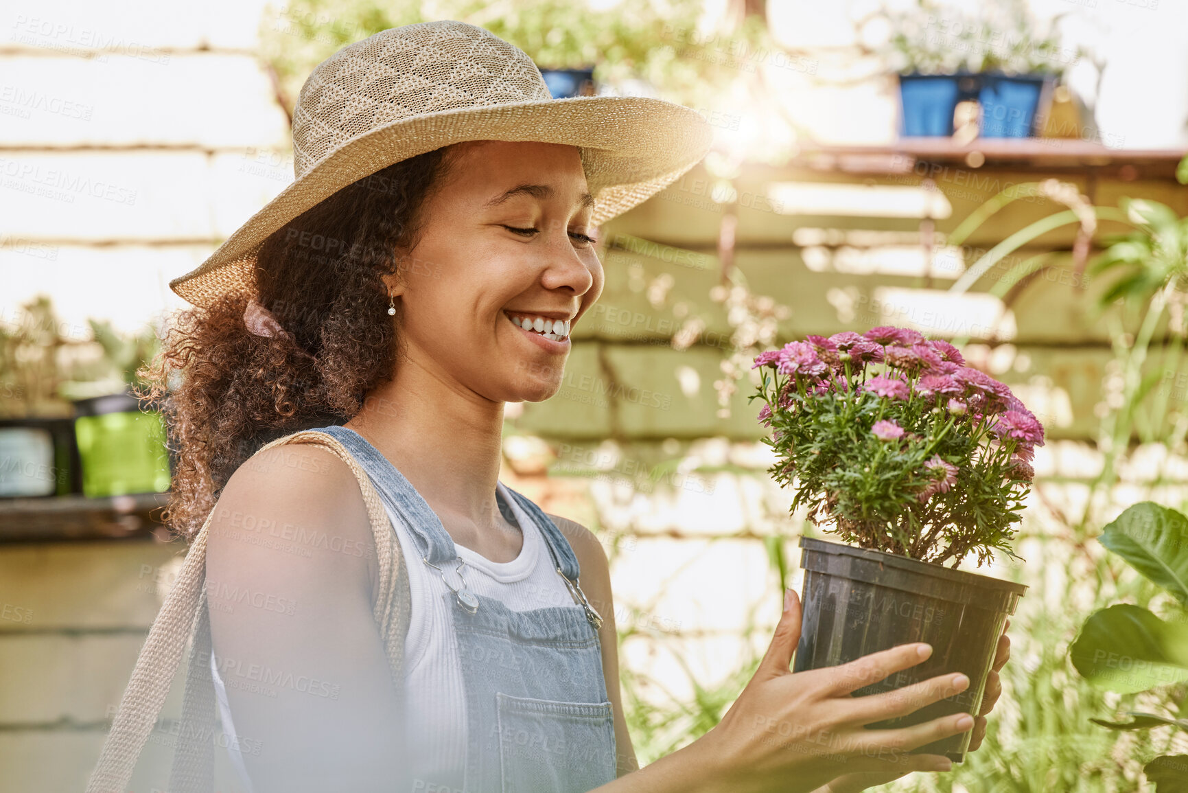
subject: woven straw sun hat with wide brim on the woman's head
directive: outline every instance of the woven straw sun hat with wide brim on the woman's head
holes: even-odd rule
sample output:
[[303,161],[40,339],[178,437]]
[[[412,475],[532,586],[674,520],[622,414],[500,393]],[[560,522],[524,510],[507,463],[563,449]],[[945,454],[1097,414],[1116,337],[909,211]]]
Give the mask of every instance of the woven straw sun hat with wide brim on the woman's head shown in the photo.
[[644,96],[552,99],[517,46],[454,20],[405,25],[323,61],[293,112],[296,180],[170,289],[196,306],[255,292],[255,252],[335,191],[409,157],[461,140],[577,146],[600,225],[693,168],[713,130],[688,107]]

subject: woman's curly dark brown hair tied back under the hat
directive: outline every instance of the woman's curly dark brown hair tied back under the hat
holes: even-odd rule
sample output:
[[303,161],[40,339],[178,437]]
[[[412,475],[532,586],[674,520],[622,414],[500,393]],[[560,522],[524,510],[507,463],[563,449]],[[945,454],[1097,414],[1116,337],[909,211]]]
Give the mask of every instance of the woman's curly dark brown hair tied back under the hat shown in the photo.
[[349,421],[392,377],[400,351],[381,276],[399,275],[400,252],[416,247],[422,209],[451,172],[454,146],[361,178],[264,241],[255,298],[289,336],[251,333],[246,294],[175,316],[139,372],[140,397],[159,405],[169,428],[175,473],[163,518],[173,533],[192,540],[261,446]]

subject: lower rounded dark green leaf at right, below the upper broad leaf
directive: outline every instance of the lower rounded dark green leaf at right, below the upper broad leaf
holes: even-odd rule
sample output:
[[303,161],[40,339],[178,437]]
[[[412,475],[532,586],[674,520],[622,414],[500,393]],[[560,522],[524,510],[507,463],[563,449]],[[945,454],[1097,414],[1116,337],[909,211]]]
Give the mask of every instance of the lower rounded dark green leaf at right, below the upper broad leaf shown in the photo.
[[1123,694],[1188,680],[1188,625],[1129,603],[1089,615],[1068,653],[1082,678]]

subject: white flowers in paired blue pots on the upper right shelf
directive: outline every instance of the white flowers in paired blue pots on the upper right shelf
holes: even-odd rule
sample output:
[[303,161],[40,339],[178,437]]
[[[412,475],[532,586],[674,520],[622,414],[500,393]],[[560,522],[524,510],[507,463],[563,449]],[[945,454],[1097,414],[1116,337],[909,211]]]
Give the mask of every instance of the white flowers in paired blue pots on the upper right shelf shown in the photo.
[[1059,19],[1038,33],[1022,0],[991,4],[979,15],[933,2],[896,15],[889,55],[899,74],[899,133],[952,136],[958,103],[977,100],[981,137],[1034,136],[1056,81],[1080,54],[1061,49]]

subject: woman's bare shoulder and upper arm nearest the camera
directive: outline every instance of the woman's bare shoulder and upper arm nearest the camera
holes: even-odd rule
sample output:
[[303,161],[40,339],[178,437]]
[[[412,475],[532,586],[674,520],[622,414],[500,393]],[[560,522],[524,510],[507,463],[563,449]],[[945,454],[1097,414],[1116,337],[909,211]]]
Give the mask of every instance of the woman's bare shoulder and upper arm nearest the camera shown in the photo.
[[392,789],[400,731],[372,617],[377,572],[359,485],[331,452],[273,447],[223,489],[210,630],[257,793]]

